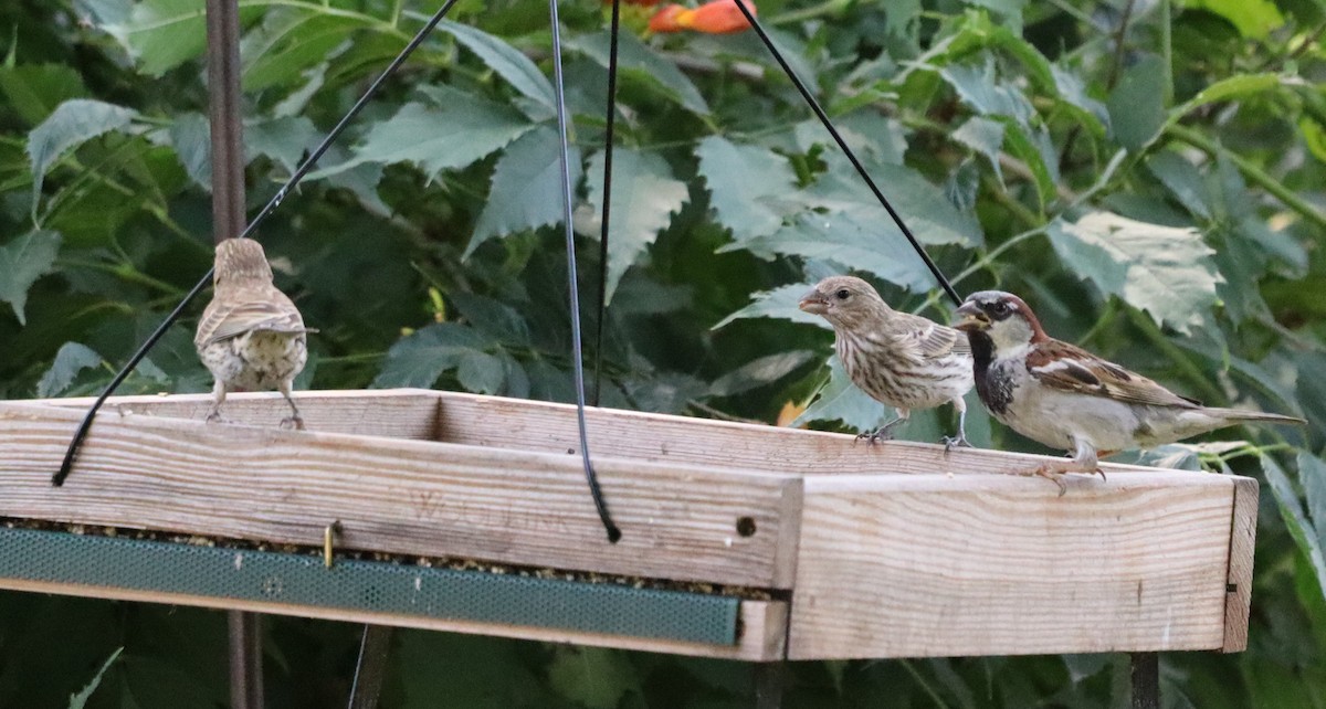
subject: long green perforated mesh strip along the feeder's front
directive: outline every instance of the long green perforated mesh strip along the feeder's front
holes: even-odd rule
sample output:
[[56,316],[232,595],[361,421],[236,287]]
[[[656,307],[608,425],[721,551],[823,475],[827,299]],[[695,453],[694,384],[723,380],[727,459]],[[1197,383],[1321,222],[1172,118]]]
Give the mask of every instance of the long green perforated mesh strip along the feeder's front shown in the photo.
[[0,576],[544,628],[736,643],[740,600],[609,583],[0,529]]

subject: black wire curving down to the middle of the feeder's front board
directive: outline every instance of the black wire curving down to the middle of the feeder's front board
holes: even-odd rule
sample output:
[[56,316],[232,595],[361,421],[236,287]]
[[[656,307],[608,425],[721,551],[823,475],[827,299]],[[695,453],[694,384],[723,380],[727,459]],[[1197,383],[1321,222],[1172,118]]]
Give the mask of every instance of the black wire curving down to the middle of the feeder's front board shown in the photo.
[[579,424],[581,435],[581,461],[585,464],[585,480],[589,482],[589,492],[594,496],[594,509],[598,518],[603,521],[607,530],[607,541],[617,543],[622,538],[622,530],[613,523],[613,516],[607,513],[607,502],[603,501],[603,490],[598,486],[598,476],[594,474],[594,465],[589,460],[589,433],[585,427],[585,347],[581,343],[579,333],[579,289],[575,285],[575,232],[572,228],[572,212],[574,200],[572,199],[572,147],[566,135],[566,86],[562,82],[562,33],[557,19],[557,0],[548,0],[548,15],[553,25],[553,89],[557,93],[557,134],[562,143],[562,223],[566,227],[566,290],[572,309],[572,374],[575,378],[575,423]]

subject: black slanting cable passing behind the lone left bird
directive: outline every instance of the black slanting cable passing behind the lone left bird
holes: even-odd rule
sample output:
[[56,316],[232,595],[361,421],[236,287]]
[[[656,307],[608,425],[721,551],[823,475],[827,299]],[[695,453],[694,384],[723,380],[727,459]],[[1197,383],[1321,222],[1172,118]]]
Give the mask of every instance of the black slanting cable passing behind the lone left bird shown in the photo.
[[[350,121],[353,121],[354,117],[358,115],[359,111],[369,103],[369,99],[378,93],[378,89],[382,86],[382,83],[389,77],[391,77],[391,74],[396,73],[396,69],[399,69],[400,65],[404,64],[404,61],[410,57],[410,54],[412,54],[414,50],[418,49],[420,44],[423,44],[423,41],[428,37],[432,29],[438,27],[438,23],[440,23],[442,19],[447,16],[447,12],[450,12],[451,7],[455,4],[456,0],[447,0],[446,4],[438,8],[438,12],[435,12],[432,17],[428,20],[428,23],[423,25],[423,29],[420,29],[414,36],[414,38],[410,40],[410,44],[407,44],[404,49],[402,49],[400,53],[396,54],[396,58],[391,60],[391,64],[389,64],[387,68],[381,74],[378,74],[378,78],[375,78],[373,83],[369,85],[369,89],[363,91],[363,95],[359,97],[359,101],[355,101],[354,106],[350,107],[350,110],[345,114],[345,117],[341,118],[341,121],[335,125],[335,127],[333,127],[332,131],[328,133],[326,138],[324,138],[322,142],[318,143],[318,147],[313,148],[313,152],[309,154],[308,159],[305,159],[304,163],[298,167],[298,170],[296,170],[294,174],[290,175],[290,179],[286,180],[285,184],[276,191],[276,195],[273,195],[272,199],[267,203],[267,205],[263,207],[263,211],[253,217],[253,221],[249,221],[249,225],[244,228],[244,232],[240,233],[237,239],[247,239],[251,233],[253,233],[257,229],[257,227],[263,224],[263,220],[265,220],[268,215],[271,215],[272,211],[281,204],[281,200],[285,199],[285,196],[290,192],[290,190],[293,190],[297,184],[300,184],[300,180],[304,179],[304,176],[309,172],[309,170],[313,170],[313,166],[318,162],[318,158],[321,158],[322,154],[326,152],[329,147],[332,147],[332,143],[341,135],[341,133],[345,131],[346,126],[350,125]],[[93,417],[97,416],[97,411],[101,409],[102,404],[105,404],[106,399],[115,392],[119,384],[125,382],[125,379],[129,376],[129,372],[134,371],[134,367],[137,367],[138,363],[142,362],[145,356],[147,356],[147,353],[151,351],[152,346],[155,346],[158,341],[160,341],[160,338],[166,334],[166,330],[172,323],[175,323],[175,321],[178,321],[180,315],[184,314],[184,309],[188,306],[188,303],[194,298],[196,298],[198,294],[202,293],[204,288],[207,288],[207,284],[211,282],[212,273],[215,270],[216,270],[215,268],[207,270],[207,274],[204,274],[203,278],[198,281],[198,285],[195,285],[192,290],[190,290],[188,294],[184,296],[184,300],[175,306],[175,310],[171,310],[170,315],[166,315],[166,319],[162,321],[162,323],[156,327],[156,330],[154,330],[152,334],[147,337],[147,341],[143,342],[141,347],[138,347],[138,351],[129,358],[129,362],[118,372],[115,372],[114,379],[110,380],[110,384],[106,386],[105,391],[102,391],[101,395],[97,396],[97,400],[91,404],[91,408],[89,408],[88,413],[84,416],[82,423],[78,424],[78,429],[74,431],[74,437],[72,441],[69,441],[69,449],[65,452],[65,460],[64,463],[60,464],[60,470],[57,470],[56,474],[50,477],[52,485],[58,488],[65,484],[65,478],[69,477],[69,472],[70,469],[73,469],[74,459],[78,456],[78,447],[82,444],[84,439],[88,437],[88,429],[91,428],[91,421]]]

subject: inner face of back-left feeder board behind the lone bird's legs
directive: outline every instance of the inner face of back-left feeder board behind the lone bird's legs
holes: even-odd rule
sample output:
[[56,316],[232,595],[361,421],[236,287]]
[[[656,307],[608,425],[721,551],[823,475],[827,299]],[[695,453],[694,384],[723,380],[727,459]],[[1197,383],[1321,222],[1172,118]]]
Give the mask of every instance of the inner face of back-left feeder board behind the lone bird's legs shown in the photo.
[[[438,396],[428,390],[300,391],[294,394],[309,431],[434,440]],[[36,399],[27,403],[88,409],[94,399]],[[212,406],[211,394],[171,396],[111,396],[103,415],[168,416],[202,421]],[[225,396],[225,419],[249,425],[277,425],[290,415],[278,392],[236,392]]]

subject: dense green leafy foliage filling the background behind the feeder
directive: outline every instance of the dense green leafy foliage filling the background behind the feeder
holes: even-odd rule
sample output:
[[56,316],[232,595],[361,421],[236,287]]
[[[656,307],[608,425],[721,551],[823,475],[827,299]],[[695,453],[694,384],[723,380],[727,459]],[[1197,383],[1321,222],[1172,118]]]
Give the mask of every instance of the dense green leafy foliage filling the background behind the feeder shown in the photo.
[[[256,207],[436,3],[240,4]],[[202,5],[0,5],[0,396],[97,390],[210,265]],[[1018,292],[1052,333],[1208,403],[1326,420],[1321,0],[758,9],[959,290]],[[650,12],[627,8],[622,38],[603,403],[773,421],[792,402],[815,425],[878,421],[796,297],[850,268],[898,307],[945,319],[947,303],[751,33],[642,37]],[[607,37],[597,1],[562,19],[593,293]],[[566,400],[546,7],[464,0],[452,20],[260,235],[321,329],[301,384]],[[122,391],[206,390],[191,327]],[[1034,449],[973,419],[979,443]],[[951,424],[916,416],[902,435]],[[1326,428],[1223,437],[1252,443],[1152,460],[1265,482],[1250,647],[1166,656],[1164,701],[1326,706]],[[224,647],[215,612],[4,594],[0,705],[224,705]],[[338,705],[355,648],[349,626],[271,620],[269,705]],[[1105,655],[806,663],[788,705],[1120,706],[1126,669]],[[424,632],[398,635],[387,692],[391,706],[753,696],[740,664]]]

